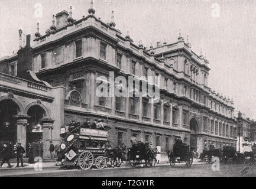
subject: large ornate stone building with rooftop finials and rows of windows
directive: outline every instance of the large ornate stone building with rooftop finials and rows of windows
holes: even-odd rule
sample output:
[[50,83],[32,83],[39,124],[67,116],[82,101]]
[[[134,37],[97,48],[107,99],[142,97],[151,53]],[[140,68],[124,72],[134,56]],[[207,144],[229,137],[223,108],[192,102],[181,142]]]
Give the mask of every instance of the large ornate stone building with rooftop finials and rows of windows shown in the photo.
[[[60,126],[72,120],[83,123],[102,118],[109,129],[109,140],[115,144],[124,141],[129,146],[129,139],[136,135],[153,146],[161,146],[162,152],[171,149],[176,138],[182,138],[198,152],[209,142],[217,147],[236,145],[234,104],[209,88],[209,61],[193,52],[181,34],[176,43],[157,43],[157,47],[147,49],[142,41],[134,44],[128,32],[122,35],[115,27],[114,15],[106,24],[96,18],[93,3],[88,12],[89,15],[77,20],[72,18],[71,8],[70,12],[59,12],[53,16],[46,34],[40,34],[38,25],[32,47],[27,45],[17,55],[0,61],[2,72],[15,75],[16,71],[18,77],[27,79],[7,74],[0,77],[7,83],[13,83],[11,80],[24,83],[24,95],[14,93],[15,100],[10,101],[20,110],[14,115],[22,115],[19,119],[27,123],[31,116],[28,109],[33,105],[41,107],[44,114],[41,117],[51,120],[43,121],[47,125],[44,130],[53,128],[49,130],[51,136],[48,130],[43,132],[45,142],[60,141]],[[142,95],[141,90],[125,90],[128,84],[123,89],[125,93],[139,95],[98,97],[99,83],[112,84],[110,71],[127,81],[133,76],[138,89],[148,77],[153,77],[150,84],[153,90],[160,90],[160,101],[149,103],[150,98]],[[29,84],[31,79],[34,85]],[[21,90],[20,84],[12,85]],[[0,86],[0,100],[3,96],[9,99],[9,90],[3,92],[2,83]],[[17,132],[25,137],[22,126],[18,125]]]

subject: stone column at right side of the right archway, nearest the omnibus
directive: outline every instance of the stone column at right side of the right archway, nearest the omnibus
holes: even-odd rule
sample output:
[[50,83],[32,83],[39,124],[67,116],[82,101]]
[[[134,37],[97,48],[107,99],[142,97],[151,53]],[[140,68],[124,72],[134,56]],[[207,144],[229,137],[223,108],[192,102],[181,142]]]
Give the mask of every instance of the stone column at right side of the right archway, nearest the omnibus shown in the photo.
[[40,120],[41,125],[43,125],[43,158],[50,157],[50,141],[53,140],[53,119],[44,118]]

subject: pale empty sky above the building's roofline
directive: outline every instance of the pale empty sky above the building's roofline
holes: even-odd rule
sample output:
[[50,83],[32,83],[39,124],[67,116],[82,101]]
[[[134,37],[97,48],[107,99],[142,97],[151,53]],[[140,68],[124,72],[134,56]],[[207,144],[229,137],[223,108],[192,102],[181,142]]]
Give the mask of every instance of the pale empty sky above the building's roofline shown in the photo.
[[[93,0],[95,16],[127,31],[135,44],[175,43],[179,35],[210,61],[209,86],[234,99],[235,110],[256,119],[256,1],[252,0]],[[19,47],[18,30],[50,28],[52,16],[72,6],[73,18],[88,15],[90,0],[0,0],[0,57]],[[31,40],[31,41],[32,41]]]

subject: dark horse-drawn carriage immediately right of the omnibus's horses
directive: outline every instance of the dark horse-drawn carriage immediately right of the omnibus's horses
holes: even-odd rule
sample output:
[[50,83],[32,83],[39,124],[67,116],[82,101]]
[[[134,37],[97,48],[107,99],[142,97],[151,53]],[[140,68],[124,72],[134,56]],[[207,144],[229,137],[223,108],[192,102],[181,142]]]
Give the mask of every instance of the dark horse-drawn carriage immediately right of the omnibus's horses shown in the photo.
[[142,161],[144,161],[147,167],[155,165],[155,152],[151,149],[148,142],[139,141],[137,145],[129,148],[127,158],[132,167],[142,164]]

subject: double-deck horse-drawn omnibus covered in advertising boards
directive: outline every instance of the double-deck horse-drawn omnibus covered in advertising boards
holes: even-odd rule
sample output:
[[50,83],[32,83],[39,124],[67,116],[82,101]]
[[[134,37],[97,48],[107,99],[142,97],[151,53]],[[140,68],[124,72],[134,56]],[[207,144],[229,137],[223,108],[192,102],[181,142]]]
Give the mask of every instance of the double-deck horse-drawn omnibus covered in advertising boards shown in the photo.
[[79,166],[82,170],[88,170],[93,165],[99,169],[106,167],[108,159],[105,157],[105,147],[108,143],[108,131],[80,126],[69,131],[67,127],[63,127],[61,136],[61,167]]

